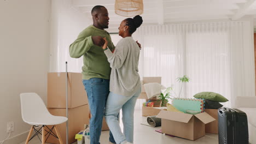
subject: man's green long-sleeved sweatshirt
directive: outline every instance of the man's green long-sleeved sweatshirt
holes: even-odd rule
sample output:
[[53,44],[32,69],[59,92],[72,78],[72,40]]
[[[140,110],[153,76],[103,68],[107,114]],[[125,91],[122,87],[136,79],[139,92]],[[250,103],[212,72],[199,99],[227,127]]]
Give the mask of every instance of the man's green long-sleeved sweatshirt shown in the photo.
[[107,31],[89,26],[69,46],[69,55],[73,58],[83,57],[82,74],[84,80],[91,78],[110,79],[111,68],[102,47],[94,45],[91,36],[99,35],[108,40],[108,48],[113,51],[114,45]]

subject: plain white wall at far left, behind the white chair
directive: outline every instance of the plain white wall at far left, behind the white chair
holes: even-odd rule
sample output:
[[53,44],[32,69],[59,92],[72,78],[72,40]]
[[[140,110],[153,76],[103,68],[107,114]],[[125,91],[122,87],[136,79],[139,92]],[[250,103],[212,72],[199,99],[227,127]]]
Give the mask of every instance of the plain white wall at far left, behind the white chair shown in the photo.
[[28,131],[20,93],[36,92],[46,102],[49,67],[50,0],[0,1],[0,141]]

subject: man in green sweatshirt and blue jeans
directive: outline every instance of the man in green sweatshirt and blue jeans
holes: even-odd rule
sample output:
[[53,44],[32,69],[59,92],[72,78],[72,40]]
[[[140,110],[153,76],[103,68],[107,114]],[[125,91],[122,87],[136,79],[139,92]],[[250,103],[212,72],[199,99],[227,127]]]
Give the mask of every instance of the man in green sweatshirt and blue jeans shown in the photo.
[[[91,119],[90,119],[90,143],[100,143],[102,119],[106,100],[109,94],[110,65],[104,54],[102,46],[105,37],[110,43],[108,48],[114,51],[114,45],[108,28],[108,11],[101,5],[96,5],[91,10],[93,25],[82,31],[78,38],[69,46],[69,55],[73,58],[83,57],[83,84],[88,95]],[[109,141],[115,143],[110,131]]]

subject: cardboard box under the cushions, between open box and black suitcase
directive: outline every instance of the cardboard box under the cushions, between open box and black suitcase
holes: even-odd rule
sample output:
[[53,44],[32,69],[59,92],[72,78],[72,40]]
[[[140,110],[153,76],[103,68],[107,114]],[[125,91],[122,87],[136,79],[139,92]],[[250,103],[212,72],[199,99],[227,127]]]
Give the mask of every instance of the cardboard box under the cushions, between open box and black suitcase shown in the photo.
[[205,133],[211,133],[211,134],[218,134],[219,133],[219,125],[218,125],[218,110],[217,109],[205,109],[205,112],[208,113],[210,116],[212,116],[213,118],[215,118],[216,120],[211,122],[211,123],[207,123],[205,125]]

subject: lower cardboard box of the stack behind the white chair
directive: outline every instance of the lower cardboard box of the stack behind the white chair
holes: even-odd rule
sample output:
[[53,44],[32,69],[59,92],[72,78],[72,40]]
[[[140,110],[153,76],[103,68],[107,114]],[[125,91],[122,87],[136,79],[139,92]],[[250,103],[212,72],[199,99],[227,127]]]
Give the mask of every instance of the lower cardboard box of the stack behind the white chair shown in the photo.
[[[66,109],[49,109],[49,112],[55,116],[66,117]],[[89,105],[68,109],[68,143],[73,143],[76,140],[75,134],[84,129],[84,124],[89,124]],[[51,128],[51,125],[48,126]],[[56,125],[60,132],[63,143],[66,143],[66,123]],[[55,130],[54,133],[56,134]],[[46,139],[47,137],[45,137]],[[59,143],[54,136],[49,136],[47,143]]]

